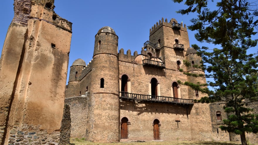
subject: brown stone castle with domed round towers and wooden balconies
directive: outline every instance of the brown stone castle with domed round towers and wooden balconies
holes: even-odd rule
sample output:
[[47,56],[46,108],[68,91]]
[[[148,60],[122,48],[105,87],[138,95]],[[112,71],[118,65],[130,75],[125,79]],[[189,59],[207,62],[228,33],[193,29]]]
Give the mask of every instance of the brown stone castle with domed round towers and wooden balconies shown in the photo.
[[140,54],[118,53],[117,43],[112,28],[101,28],[91,62],[77,59],[70,67],[65,104],[71,111],[71,137],[96,142],[211,141],[209,105],[193,103],[205,94],[177,83],[206,82],[184,74],[204,74],[183,65],[184,60],[195,65],[201,61],[189,47],[186,25],[162,18],[150,29]]

